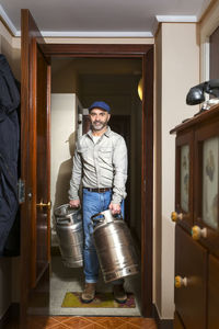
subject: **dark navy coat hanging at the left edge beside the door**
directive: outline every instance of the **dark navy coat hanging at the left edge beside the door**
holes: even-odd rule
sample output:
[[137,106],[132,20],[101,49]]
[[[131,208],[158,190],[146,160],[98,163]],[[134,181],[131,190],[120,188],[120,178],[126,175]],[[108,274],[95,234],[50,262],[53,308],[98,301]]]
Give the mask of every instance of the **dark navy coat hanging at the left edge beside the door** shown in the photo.
[[19,105],[20,91],[7,58],[0,54],[0,256],[19,208]]

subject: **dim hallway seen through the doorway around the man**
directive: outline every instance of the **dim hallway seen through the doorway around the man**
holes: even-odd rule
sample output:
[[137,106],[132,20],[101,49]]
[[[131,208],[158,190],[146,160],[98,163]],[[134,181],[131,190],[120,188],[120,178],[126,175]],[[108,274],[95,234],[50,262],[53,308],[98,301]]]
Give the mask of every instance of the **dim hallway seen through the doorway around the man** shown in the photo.
[[[138,97],[138,82],[142,76],[140,58],[51,58],[51,315],[94,315],[96,309],[61,308],[65,295],[79,293],[83,288],[82,269],[69,269],[61,262],[55,229],[54,209],[68,203],[71,175],[71,157],[78,136],[79,114],[95,100],[104,100],[112,107],[110,126],[126,139],[129,172],[125,205],[125,220],[129,226],[138,250],[140,263],[141,245],[141,113],[142,103]],[[55,145],[54,145],[55,144]],[[66,149],[66,151],[65,151]],[[125,287],[134,293],[135,308],[99,309],[100,315],[140,316],[141,276],[127,277]],[[104,284],[100,275],[97,292],[111,292],[111,284]]]

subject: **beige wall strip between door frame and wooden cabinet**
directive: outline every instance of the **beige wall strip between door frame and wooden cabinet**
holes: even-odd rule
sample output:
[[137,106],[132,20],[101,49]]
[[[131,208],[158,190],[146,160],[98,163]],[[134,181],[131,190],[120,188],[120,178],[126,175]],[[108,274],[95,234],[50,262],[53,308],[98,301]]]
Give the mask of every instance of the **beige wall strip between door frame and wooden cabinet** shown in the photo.
[[187,106],[185,98],[199,82],[199,46],[196,24],[163,23],[160,29],[155,41],[154,303],[165,319],[174,310],[174,224],[170,215],[174,211],[175,138],[170,131],[198,111]]

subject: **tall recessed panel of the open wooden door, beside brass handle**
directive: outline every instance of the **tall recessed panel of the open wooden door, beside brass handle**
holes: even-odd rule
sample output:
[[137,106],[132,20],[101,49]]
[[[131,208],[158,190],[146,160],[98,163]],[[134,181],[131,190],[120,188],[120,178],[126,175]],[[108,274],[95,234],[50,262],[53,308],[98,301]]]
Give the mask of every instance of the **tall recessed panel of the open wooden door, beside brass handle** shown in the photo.
[[[35,42],[36,44],[36,42]],[[37,44],[36,44],[37,47]],[[50,67],[48,67],[44,55],[39,47],[37,53],[37,111],[36,111],[36,154],[37,154],[37,168],[36,168],[36,202],[41,206],[37,206],[36,212],[36,258],[34,263],[35,269],[35,282],[44,273],[45,268],[50,259],[50,147],[49,147],[49,112],[50,109],[50,88],[48,81],[50,80]],[[48,88],[47,88],[48,84]],[[42,206],[42,203],[44,206]]]

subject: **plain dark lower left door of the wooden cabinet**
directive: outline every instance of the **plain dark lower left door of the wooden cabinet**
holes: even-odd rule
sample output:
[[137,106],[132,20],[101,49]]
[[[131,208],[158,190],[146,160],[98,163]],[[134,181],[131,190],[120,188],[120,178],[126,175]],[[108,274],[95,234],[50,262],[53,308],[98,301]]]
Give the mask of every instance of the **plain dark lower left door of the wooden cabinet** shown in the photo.
[[175,288],[175,309],[186,329],[206,328],[207,251],[175,227],[175,274],[187,285]]

